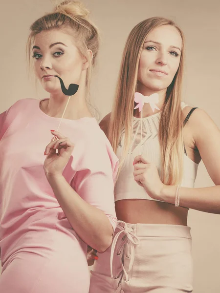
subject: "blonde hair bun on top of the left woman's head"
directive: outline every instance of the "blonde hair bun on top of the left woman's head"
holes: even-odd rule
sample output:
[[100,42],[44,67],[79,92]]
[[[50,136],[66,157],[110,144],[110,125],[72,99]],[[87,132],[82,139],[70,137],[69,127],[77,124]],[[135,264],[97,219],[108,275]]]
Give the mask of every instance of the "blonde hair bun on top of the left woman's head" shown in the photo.
[[55,8],[55,13],[60,12],[74,17],[87,18],[90,13],[84,3],[78,0],[66,0]]

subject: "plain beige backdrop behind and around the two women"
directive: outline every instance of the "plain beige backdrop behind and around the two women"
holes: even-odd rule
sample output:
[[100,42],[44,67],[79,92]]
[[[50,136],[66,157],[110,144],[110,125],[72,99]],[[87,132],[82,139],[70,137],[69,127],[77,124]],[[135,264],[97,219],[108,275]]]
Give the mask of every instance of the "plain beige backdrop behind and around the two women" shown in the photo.
[[[175,20],[186,36],[184,100],[205,109],[220,127],[220,1],[219,0],[85,0],[102,31],[99,64],[92,96],[100,118],[110,111],[125,40],[146,18]],[[30,24],[52,7],[49,0],[1,1],[0,112],[15,101],[47,97],[27,78],[25,43]],[[8,10],[9,9],[9,10]],[[201,129],[202,131],[202,129]],[[196,186],[213,185],[200,164]],[[194,292],[220,292],[220,215],[191,210]]]

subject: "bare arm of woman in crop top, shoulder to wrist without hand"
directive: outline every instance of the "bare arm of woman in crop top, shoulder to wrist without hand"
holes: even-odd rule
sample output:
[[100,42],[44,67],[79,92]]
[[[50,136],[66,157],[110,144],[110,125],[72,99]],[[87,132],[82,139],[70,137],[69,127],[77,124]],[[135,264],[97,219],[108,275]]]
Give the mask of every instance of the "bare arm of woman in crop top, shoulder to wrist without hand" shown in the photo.
[[[220,130],[202,110],[190,117],[190,127],[202,161],[215,186],[179,189],[180,206],[220,214]],[[163,186],[158,199],[175,202],[176,187]]]

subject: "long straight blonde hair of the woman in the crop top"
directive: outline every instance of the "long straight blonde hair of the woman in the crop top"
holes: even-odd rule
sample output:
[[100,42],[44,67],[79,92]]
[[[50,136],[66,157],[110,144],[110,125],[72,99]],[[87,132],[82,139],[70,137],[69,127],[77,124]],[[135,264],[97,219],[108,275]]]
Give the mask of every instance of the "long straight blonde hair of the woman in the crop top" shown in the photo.
[[[181,87],[184,63],[184,36],[174,21],[153,17],[138,23],[127,39],[116,87],[113,109],[110,115],[108,138],[116,152],[120,134],[125,127],[123,157],[126,156],[132,141],[132,119],[134,93],[137,88],[137,74],[141,51],[147,35],[156,27],[172,25],[182,38],[182,53],[176,75],[168,86],[159,124],[159,143],[161,153],[161,180],[167,185],[180,184],[182,179],[182,118]],[[123,159],[121,161],[121,164]]]

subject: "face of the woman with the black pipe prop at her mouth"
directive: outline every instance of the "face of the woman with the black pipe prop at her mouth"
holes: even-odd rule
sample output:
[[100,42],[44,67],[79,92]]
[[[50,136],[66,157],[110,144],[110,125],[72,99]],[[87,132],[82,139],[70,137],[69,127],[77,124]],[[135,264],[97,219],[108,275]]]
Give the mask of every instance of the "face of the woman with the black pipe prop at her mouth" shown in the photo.
[[88,62],[82,56],[74,39],[62,30],[42,31],[37,34],[33,46],[35,72],[49,93],[61,92],[57,75],[62,78],[66,88],[69,84],[80,84],[82,71]]

